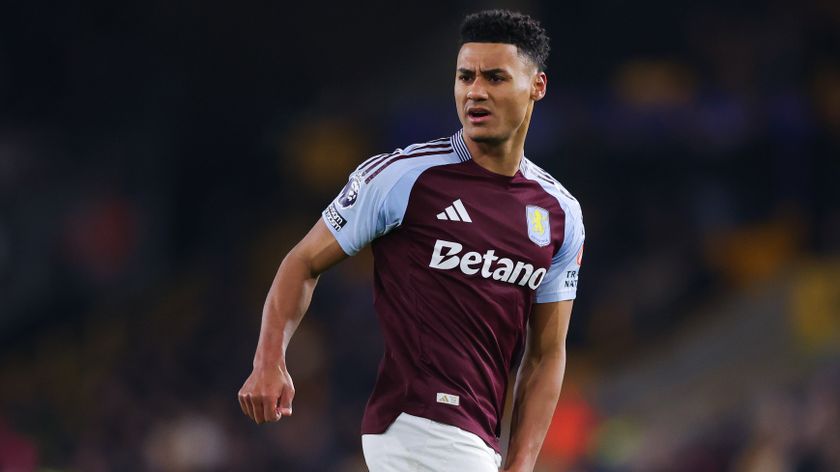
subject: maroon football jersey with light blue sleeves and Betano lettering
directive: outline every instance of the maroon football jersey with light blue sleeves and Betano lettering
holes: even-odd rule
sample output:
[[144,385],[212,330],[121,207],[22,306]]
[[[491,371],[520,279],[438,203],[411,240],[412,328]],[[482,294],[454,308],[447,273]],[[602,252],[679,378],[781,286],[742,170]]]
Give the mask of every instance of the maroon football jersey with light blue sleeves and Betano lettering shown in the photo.
[[499,451],[531,307],[575,298],[577,200],[524,157],[512,177],[481,167],[461,130],[363,162],[322,217],[348,255],[373,250],[385,352],[362,433],[404,411]]

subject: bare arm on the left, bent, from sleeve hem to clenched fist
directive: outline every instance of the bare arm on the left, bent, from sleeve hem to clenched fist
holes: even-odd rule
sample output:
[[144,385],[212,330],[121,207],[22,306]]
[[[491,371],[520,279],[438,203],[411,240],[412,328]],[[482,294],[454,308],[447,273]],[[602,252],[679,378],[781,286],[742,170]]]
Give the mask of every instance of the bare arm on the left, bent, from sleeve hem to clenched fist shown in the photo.
[[292,414],[295,390],[286,368],[286,348],[309,308],[318,277],[345,258],[319,219],[280,264],[263,306],[253,371],[239,390],[242,412],[257,424]]

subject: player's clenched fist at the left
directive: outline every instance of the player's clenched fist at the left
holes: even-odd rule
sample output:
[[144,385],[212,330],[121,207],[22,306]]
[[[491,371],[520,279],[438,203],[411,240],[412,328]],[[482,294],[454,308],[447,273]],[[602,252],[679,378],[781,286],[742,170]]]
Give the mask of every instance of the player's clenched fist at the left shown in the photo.
[[239,406],[257,424],[292,415],[295,386],[285,366],[254,367],[239,389]]

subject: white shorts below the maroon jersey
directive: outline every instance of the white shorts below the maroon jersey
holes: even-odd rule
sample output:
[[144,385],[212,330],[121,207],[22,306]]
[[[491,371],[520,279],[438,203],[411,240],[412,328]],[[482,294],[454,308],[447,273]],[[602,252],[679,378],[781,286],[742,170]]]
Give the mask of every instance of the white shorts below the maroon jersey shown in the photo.
[[502,456],[457,426],[400,413],[382,434],[363,434],[370,472],[497,472]]

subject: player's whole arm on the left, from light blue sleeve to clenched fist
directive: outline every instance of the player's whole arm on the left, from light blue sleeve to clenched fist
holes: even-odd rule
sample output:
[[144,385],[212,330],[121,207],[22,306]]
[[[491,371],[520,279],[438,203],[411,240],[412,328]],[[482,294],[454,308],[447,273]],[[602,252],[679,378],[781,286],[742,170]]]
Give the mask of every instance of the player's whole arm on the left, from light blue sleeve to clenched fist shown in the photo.
[[416,174],[402,181],[404,168],[382,166],[388,170],[377,171],[375,180],[376,174],[363,179],[361,166],[350,174],[321,219],[280,264],[263,308],[254,370],[239,390],[242,412],[257,424],[292,414],[295,388],[286,347],[309,307],[318,276],[402,222]]

